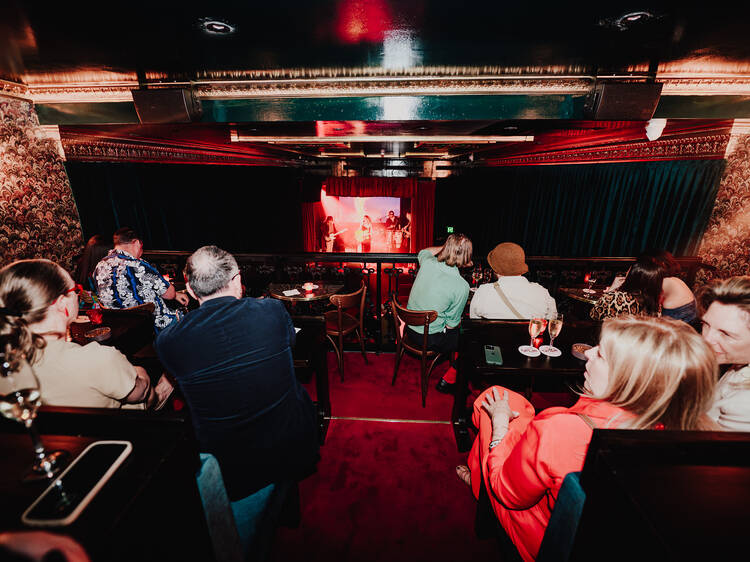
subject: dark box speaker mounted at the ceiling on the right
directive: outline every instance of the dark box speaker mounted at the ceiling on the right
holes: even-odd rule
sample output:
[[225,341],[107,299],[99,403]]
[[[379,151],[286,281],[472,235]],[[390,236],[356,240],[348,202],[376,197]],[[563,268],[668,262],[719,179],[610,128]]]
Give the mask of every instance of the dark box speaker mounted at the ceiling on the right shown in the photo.
[[659,103],[662,84],[597,84],[584,104],[586,119],[600,121],[648,121]]

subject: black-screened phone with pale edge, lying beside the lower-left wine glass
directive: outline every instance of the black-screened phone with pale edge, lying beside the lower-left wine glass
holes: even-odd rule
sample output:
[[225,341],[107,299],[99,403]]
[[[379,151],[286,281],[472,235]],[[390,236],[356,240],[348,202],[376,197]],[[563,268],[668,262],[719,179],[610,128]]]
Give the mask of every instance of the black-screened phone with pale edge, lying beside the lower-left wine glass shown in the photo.
[[69,525],[133,450],[130,441],[91,443],[21,516],[26,525]]

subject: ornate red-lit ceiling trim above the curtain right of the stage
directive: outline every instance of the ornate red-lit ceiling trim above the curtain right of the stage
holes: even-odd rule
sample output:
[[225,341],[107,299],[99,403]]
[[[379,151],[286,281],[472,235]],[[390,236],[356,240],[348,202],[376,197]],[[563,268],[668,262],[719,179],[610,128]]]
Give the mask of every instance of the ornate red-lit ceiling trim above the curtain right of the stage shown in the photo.
[[721,159],[730,135],[707,135],[624,143],[611,146],[545,152],[529,156],[488,158],[487,166],[530,166],[540,164],[587,164],[643,162],[655,160]]

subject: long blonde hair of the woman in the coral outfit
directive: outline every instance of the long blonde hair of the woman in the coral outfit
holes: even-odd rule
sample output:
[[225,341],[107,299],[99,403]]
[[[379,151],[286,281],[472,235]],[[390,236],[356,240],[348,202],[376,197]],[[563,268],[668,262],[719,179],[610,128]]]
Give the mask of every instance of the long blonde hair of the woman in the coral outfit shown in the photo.
[[716,356],[685,322],[621,316],[604,321],[599,346],[609,367],[604,400],[635,414],[624,426],[713,429],[706,416],[718,379]]

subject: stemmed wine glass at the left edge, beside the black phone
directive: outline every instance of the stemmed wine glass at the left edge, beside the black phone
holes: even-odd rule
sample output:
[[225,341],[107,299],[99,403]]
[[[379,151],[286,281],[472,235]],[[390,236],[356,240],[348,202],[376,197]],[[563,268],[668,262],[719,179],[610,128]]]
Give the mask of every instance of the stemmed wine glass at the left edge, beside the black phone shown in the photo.
[[0,414],[26,426],[34,444],[34,464],[27,479],[52,478],[68,461],[67,451],[47,452],[34,426],[42,403],[39,381],[25,358],[0,352]]

